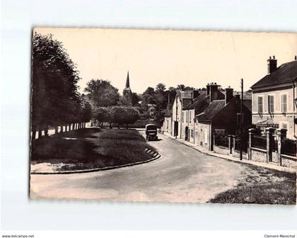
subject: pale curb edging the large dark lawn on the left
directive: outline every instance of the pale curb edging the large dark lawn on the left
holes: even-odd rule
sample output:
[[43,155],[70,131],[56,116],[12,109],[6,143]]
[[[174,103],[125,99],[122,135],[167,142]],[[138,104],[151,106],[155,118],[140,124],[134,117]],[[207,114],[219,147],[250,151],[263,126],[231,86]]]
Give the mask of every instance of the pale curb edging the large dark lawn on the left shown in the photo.
[[73,170],[73,171],[52,171],[52,172],[42,172],[42,171],[33,171],[30,172],[30,174],[83,174],[83,173],[91,173],[91,172],[98,172],[98,171],[105,171],[105,170],[112,170],[112,169],[120,169],[128,166],[134,166],[138,164],[146,164],[148,162],[153,162],[156,159],[159,159],[161,157],[161,154],[158,154],[157,152],[151,151],[151,149],[145,149],[146,153],[153,155],[152,159],[148,159],[143,162],[135,162],[135,163],[130,163],[130,164],[122,164],[122,165],[117,165],[117,166],[107,166],[103,168],[98,168],[98,169],[81,169],[81,170]]

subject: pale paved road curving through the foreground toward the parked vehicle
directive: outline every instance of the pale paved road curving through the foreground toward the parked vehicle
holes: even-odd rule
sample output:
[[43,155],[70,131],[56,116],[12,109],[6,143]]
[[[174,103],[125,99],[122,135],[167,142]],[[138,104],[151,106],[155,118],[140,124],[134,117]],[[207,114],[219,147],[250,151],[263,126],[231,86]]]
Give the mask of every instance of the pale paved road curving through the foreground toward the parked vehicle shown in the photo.
[[[143,133],[143,132],[141,132]],[[164,135],[149,142],[160,159],[88,174],[31,175],[31,198],[204,203],[235,186],[245,166],[211,157]]]

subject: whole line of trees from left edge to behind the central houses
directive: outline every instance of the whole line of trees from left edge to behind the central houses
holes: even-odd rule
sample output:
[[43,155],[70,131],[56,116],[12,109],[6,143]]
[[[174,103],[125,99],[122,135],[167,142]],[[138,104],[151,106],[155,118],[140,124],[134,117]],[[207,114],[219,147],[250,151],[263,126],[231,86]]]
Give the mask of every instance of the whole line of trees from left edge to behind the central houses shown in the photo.
[[[184,85],[166,90],[164,84],[156,89],[148,87],[143,94],[132,94],[132,107],[122,105],[120,94],[110,81],[91,79],[86,95],[78,93],[80,79],[76,64],[72,62],[62,42],[52,35],[33,35],[33,81],[31,122],[33,138],[48,128],[82,128],[86,121],[129,125],[141,115],[148,117],[148,104],[155,104],[157,120],[163,120],[163,111],[171,108],[175,90],[193,89]],[[168,105],[169,98],[169,105]],[[139,103],[141,101],[142,103]],[[72,125],[72,126],[71,126]],[[76,126],[77,125],[77,126]]]

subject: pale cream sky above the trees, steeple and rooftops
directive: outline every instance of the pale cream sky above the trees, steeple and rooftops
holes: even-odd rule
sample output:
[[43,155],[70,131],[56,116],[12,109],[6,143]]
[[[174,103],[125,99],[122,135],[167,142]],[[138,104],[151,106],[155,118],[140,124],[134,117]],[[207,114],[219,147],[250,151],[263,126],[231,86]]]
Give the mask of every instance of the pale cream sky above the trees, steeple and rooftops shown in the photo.
[[185,84],[202,88],[216,82],[244,90],[267,74],[267,59],[278,66],[297,55],[297,34],[188,30],[35,28],[62,41],[78,65],[81,92],[91,79],[108,79],[124,89],[129,70],[132,91]]

